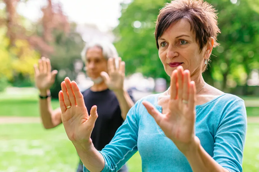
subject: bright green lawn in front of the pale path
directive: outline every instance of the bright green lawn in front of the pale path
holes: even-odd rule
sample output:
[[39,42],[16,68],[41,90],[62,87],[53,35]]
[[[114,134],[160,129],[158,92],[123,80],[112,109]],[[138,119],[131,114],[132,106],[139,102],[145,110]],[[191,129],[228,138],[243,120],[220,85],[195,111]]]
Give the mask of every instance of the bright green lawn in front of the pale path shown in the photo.
[[[78,156],[62,125],[44,130],[41,124],[0,125],[0,171],[73,172]],[[259,171],[259,124],[249,124],[243,171]],[[129,161],[130,172],[141,171],[136,153]]]

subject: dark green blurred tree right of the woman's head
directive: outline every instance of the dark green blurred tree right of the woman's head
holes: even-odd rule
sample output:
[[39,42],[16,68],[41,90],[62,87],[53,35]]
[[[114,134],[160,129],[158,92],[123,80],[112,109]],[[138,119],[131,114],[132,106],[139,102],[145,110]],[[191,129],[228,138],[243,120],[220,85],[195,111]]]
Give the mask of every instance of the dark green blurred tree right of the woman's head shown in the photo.
[[212,58],[212,70],[207,76],[222,82],[221,89],[225,91],[229,91],[228,87],[247,85],[247,76],[256,67],[250,64],[256,62],[259,55],[256,47],[259,15],[251,10],[249,0],[240,1],[240,4],[223,0],[209,2],[219,10],[221,34],[218,40],[221,46],[213,51],[216,57]]

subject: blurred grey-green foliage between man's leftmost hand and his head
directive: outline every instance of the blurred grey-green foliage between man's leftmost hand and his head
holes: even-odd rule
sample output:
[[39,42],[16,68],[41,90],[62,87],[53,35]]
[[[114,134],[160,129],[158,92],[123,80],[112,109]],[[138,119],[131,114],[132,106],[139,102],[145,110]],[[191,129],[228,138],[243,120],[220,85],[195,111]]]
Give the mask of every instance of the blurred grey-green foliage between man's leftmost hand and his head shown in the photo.
[[74,62],[81,61],[81,51],[84,41],[79,33],[76,32],[76,24],[71,24],[70,33],[65,35],[63,32],[55,30],[53,33],[55,42],[53,47],[55,53],[51,55],[50,61],[52,70],[58,70],[55,83],[51,88],[53,98],[58,98],[58,92],[61,90],[61,82],[65,77],[71,80],[76,79],[77,72],[74,69]]

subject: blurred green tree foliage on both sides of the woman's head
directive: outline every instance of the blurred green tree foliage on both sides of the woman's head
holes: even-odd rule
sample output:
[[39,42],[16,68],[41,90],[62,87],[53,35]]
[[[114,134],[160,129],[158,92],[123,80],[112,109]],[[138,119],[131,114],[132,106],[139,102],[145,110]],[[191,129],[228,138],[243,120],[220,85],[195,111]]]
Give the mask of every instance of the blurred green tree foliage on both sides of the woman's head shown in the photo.
[[[145,76],[169,81],[153,34],[156,17],[165,2],[169,1],[134,0],[131,4],[122,4],[120,24],[114,33],[118,37],[115,46],[126,62],[126,74],[142,72]],[[213,50],[204,79],[223,90],[246,85],[251,70],[259,67],[259,14],[255,10],[258,6],[251,7],[250,0],[237,4],[229,0],[208,2],[218,10],[222,33],[218,37],[221,46]],[[258,4],[258,0],[254,4]]]

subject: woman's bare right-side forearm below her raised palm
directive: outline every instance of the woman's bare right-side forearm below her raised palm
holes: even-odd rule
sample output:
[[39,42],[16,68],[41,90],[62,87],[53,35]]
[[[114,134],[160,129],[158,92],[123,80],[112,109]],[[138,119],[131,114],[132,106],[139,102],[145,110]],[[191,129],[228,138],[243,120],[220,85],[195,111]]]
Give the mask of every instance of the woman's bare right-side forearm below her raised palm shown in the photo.
[[190,151],[184,153],[193,172],[210,171],[210,172],[229,172],[219,165],[201,146],[198,140],[192,145]]

